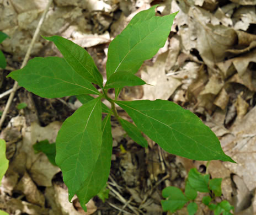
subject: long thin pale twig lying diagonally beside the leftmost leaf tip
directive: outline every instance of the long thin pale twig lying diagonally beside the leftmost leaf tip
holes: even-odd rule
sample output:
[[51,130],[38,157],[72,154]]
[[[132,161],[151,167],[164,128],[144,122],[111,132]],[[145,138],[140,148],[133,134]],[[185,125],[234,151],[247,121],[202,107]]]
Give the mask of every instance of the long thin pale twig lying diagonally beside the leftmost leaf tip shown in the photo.
[[[32,40],[31,40],[31,42],[30,42],[28,51],[26,51],[26,55],[25,55],[25,57],[24,57],[24,60],[23,60],[23,62],[22,62],[22,66],[21,66],[20,68],[23,68],[23,67],[26,65],[26,62],[28,62],[28,60],[29,60],[29,56],[30,56],[32,47],[33,47],[33,45],[34,45],[34,43],[35,43],[36,38],[38,37],[38,34],[39,34],[39,31],[40,31],[41,25],[42,25],[42,23],[44,22],[44,19],[45,19],[45,17],[46,17],[46,14],[47,14],[47,12],[48,12],[48,10],[49,10],[49,7],[50,7],[51,3],[52,3],[52,0],[49,0],[48,4],[47,4],[47,6],[46,6],[46,8],[45,8],[45,10],[44,10],[44,13],[42,14],[42,17],[41,17],[41,19],[39,20],[38,26],[36,26],[35,33],[34,33],[34,35],[33,35],[33,38],[32,38]],[[7,112],[8,112],[8,110],[9,110],[10,104],[11,104],[12,101],[13,101],[14,94],[15,94],[17,88],[18,88],[18,82],[15,82],[14,85],[13,85],[12,93],[10,93],[10,96],[9,96],[9,98],[8,98],[6,107],[4,108],[3,114],[2,114],[1,119],[0,119],[0,128],[1,128],[2,125],[3,125],[4,119],[6,119]]]

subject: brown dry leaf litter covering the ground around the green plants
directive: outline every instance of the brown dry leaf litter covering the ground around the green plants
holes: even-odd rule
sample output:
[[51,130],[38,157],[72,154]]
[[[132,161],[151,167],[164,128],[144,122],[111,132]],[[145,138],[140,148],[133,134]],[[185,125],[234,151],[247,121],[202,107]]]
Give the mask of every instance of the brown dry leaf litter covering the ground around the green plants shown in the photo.
[[[110,40],[125,28],[137,12],[150,8],[155,1],[95,2],[55,1],[41,34],[65,35],[67,39],[89,48],[90,53],[98,55],[96,64],[104,73],[104,59]],[[45,2],[30,0],[25,4],[19,1],[7,4],[7,1],[3,1],[0,4],[3,5],[0,13],[5,17],[0,19],[0,30],[11,37],[3,42],[1,50],[13,55],[12,61],[19,61],[28,47]],[[234,202],[238,214],[256,212],[256,158],[253,144],[255,5],[254,0],[226,3],[217,0],[161,2],[157,9],[159,15],[177,10],[179,13],[165,49],[152,60],[147,60],[140,69],[140,77],[154,86],[126,87],[120,94],[124,100],[173,100],[201,116],[206,125],[215,131],[225,152],[238,163],[214,161],[209,166],[212,178],[223,177],[223,197]],[[42,39],[36,42],[33,55],[59,55],[51,45],[45,45],[44,42]],[[4,82],[9,80],[4,79]],[[1,86],[1,93],[8,89],[5,83]],[[65,106],[71,98],[61,100],[64,106],[53,100],[39,100],[35,96],[33,99],[35,108],[39,110],[39,123],[43,127],[36,123],[26,125],[24,110],[19,111],[18,117],[14,117],[18,112],[13,109],[10,113],[12,121],[1,131],[1,138],[7,139],[10,167],[1,187],[1,201],[8,203],[0,202],[0,206],[10,214],[14,214],[15,210],[28,214],[79,214],[81,208],[76,201],[73,205],[64,201],[67,200],[67,189],[61,182],[60,170],[52,166],[46,155],[35,155],[32,148],[34,143],[45,137],[50,143],[55,142],[61,123],[53,119],[63,120],[71,114],[73,110]],[[1,110],[4,101],[5,98],[0,103]],[[52,108],[56,104],[60,106],[57,112],[62,111],[60,109],[66,110],[58,118],[56,110]],[[43,108],[39,108],[39,105],[45,106],[45,110],[41,111]],[[123,116],[128,119],[125,113]],[[150,147],[143,150],[125,135],[117,122],[114,122],[114,126],[116,132],[113,138],[117,146],[113,149],[115,159],[112,161],[108,185],[109,203],[103,204],[98,197],[93,198],[96,206],[88,206],[88,212],[92,208],[88,214],[97,214],[94,212],[97,207],[108,208],[98,208],[103,214],[116,214],[124,205],[123,210],[131,214],[162,214],[159,192],[170,185],[184,189],[188,170],[194,166],[200,169],[206,163],[175,158],[159,150],[154,143],[149,143]],[[28,181],[29,187],[33,187],[33,192],[23,186],[25,181]],[[52,209],[42,203],[44,198]],[[201,208],[200,213],[209,214],[209,211]]]

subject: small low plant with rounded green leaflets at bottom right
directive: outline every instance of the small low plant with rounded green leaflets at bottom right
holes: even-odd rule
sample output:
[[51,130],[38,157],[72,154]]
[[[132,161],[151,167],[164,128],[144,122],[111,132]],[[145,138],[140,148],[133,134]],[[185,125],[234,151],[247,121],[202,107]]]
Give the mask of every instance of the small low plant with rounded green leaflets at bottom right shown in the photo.
[[185,195],[182,190],[177,187],[169,186],[163,189],[163,197],[167,200],[162,200],[162,207],[164,211],[175,212],[178,209],[182,209],[186,203],[189,215],[194,215],[198,210],[198,205],[195,202],[198,192],[206,192],[209,195],[202,198],[202,203],[214,211],[214,215],[232,215],[230,212],[234,209],[233,206],[226,200],[220,203],[211,203],[216,197],[220,197],[222,178],[210,179],[209,174],[202,175],[192,168],[189,170],[188,178],[186,179]]

